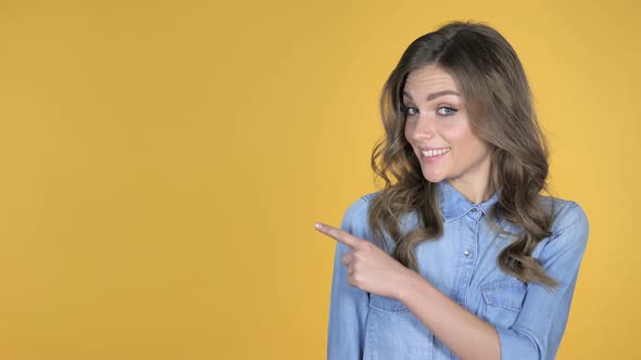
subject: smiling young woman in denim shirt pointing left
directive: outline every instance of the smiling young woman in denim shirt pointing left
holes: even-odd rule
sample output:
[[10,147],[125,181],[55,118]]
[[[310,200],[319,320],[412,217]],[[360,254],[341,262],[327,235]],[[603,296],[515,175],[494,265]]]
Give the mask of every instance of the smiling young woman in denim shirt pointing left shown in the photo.
[[545,190],[523,66],[487,25],[416,39],[381,95],[385,189],[345,213],[329,359],[554,359],[588,239]]

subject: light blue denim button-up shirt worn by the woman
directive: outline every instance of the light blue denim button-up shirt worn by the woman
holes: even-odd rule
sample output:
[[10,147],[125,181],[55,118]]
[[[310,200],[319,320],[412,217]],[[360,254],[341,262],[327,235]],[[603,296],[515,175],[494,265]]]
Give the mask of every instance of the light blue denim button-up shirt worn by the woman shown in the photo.
[[[472,204],[447,181],[437,188],[443,235],[416,246],[420,275],[497,329],[502,359],[554,359],[588,240],[588,219],[581,207],[540,196],[543,206],[554,203],[556,215],[552,235],[532,253],[545,273],[558,283],[550,290],[539,283],[524,283],[499,268],[498,256],[514,237],[500,235],[486,221],[498,194],[485,203]],[[375,195],[365,195],[348,208],[343,230],[372,241],[367,214]],[[407,231],[416,223],[416,215],[407,216],[401,229]],[[499,219],[498,224],[512,233],[519,232],[505,220]],[[347,269],[340,258],[349,250],[337,243],[327,358],[456,359],[403,303],[347,284]]]

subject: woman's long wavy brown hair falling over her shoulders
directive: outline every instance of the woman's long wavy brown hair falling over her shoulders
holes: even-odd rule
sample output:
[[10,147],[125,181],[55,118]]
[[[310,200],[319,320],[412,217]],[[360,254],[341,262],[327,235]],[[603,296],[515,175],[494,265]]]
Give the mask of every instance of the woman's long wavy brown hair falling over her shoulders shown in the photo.
[[[417,269],[414,247],[442,234],[437,188],[423,177],[420,164],[404,137],[402,91],[407,75],[427,65],[448,72],[462,91],[473,132],[490,146],[490,191],[500,190],[489,211],[490,223],[513,236],[499,255],[499,266],[524,282],[555,286],[531,254],[551,235],[553,210],[539,202],[548,177],[548,150],[537,121],[528,81],[510,43],[483,24],[450,23],[414,40],[386,81],[380,98],[385,137],[372,154],[372,168],[385,181],[374,198],[369,227],[375,242],[393,257]],[[418,227],[402,233],[402,216],[416,213]],[[502,218],[520,229],[501,230]],[[387,235],[386,235],[387,234]]]

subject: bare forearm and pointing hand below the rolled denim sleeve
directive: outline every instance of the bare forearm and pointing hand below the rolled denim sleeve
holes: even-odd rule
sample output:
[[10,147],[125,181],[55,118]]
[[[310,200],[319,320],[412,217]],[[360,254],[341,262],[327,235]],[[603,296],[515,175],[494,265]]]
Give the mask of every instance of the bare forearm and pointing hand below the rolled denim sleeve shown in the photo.
[[497,331],[373,243],[327,224],[316,229],[351,248],[341,262],[347,283],[399,299],[461,359],[500,359]]

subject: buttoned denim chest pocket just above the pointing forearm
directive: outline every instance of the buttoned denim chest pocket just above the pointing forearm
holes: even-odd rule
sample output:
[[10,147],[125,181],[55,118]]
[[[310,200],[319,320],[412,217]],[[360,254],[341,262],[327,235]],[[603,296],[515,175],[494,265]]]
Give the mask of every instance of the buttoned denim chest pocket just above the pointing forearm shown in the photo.
[[511,278],[481,287],[485,303],[483,318],[493,325],[510,327],[520,312],[527,284]]

